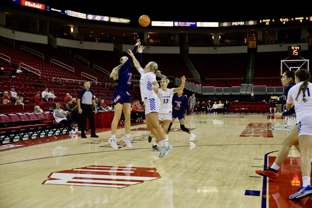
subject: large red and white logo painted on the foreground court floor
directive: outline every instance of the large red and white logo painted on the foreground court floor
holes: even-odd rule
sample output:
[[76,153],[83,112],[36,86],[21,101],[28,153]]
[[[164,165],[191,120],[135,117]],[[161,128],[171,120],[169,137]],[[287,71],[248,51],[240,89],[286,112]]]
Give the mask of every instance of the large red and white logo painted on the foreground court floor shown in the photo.
[[52,172],[42,184],[124,188],[161,178],[154,167],[86,166]]

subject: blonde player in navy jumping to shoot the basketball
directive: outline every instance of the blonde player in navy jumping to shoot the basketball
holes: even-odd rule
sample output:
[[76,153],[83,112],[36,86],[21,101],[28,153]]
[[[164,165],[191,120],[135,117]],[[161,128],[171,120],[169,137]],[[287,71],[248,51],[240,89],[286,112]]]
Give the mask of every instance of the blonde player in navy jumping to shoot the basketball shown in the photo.
[[[135,54],[138,46],[139,52],[139,62],[142,62],[142,51],[144,49],[143,46],[140,46],[140,42],[137,42],[132,50],[133,54]],[[114,100],[114,109],[115,115],[111,125],[112,135],[108,140],[110,145],[114,149],[118,149],[117,140],[116,140],[116,129],[117,124],[119,122],[121,111],[124,111],[124,128],[126,135],[122,139],[124,143],[127,144],[129,148],[132,148],[132,144],[130,142],[130,113],[131,113],[131,103],[130,103],[130,94],[131,91],[131,81],[132,81],[132,72],[136,70],[135,66],[128,67],[132,61],[132,57],[123,56],[120,59],[120,65],[115,67],[113,71],[110,73],[110,78],[113,80],[118,80],[118,85],[116,87],[116,91],[113,96]]]

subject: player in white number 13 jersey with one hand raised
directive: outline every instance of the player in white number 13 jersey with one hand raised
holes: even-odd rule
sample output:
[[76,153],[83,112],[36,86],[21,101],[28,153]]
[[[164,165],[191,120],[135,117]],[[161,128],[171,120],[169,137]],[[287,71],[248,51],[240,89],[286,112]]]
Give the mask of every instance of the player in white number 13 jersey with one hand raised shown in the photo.
[[[159,114],[158,114],[158,121],[159,125],[161,124],[161,127],[163,128],[163,132],[166,133],[167,129],[169,128],[170,121],[172,119],[172,97],[174,93],[177,93],[179,91],[182,91],[184,89],[185,85],[185,76],[181,77],[182,83],[180,87],[178,88],[170,88],[168,89],[168,83],[169,80],[166,76],[163,76],[163,78],[160,80],[160,88],[157,89],[155,92],[157,93],[157,96],[160,100],[160,108],[159,108]],[[166,134],[166,140],[168,141],[168,135]],[[152,135],[149,133],[149,142],[152,141]],[[159,151],[157,147],[157,143],[154,142],[152,145],[152,149],[154,151]]]

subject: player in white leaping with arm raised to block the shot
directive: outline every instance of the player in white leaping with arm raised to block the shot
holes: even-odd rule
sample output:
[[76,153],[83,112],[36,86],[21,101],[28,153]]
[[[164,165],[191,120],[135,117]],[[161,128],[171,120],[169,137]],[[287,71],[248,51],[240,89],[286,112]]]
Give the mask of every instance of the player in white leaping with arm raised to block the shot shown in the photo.
[[172,149],[172,146],[166,141],[165,133],[158,123],[160,100],[155,93],[159,88],[158,82],[156,81],[156,75],[161,78],[163,75],[157,70],[158,65],[155,62],[149,62],[143,69],[131,50],[129,50],[128,54],[132,57],[135,68],[137,68],[141,74],[140,90],[142,101],[145,104],[146,126],[155,136],[156,141],[161,147],[159,157],[164,157]]

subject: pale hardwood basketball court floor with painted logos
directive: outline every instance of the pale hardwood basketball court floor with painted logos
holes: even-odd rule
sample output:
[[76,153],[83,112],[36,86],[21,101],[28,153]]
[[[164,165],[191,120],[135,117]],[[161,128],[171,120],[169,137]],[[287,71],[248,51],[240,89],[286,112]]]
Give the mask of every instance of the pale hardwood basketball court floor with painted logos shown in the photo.
[[[274,207],[263,189],[269,180],[264,183],[255,170],[266,153],[277,155],[273,151],[288,133],[287,123],[291,128],[295,120],[267,115],[186,120],[196,138],[190,143],[187,133],[170,132],[173,149],[163,158],[151,150],[145,124],[131,127],[133,148],[121,140],[122,128],[118,150],[110,147],[106,131],[96,139],[74,137],[0,152],[1,207]],[[282,130],[271,130],[271,124]],[[174,123],[172,129],[178,128]],[[299,156],[290,150],[289,157]]]

